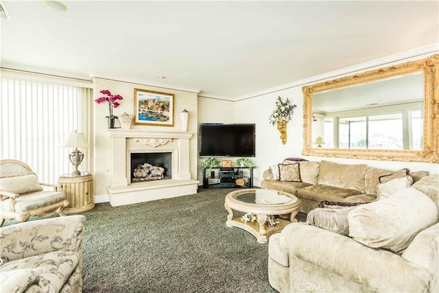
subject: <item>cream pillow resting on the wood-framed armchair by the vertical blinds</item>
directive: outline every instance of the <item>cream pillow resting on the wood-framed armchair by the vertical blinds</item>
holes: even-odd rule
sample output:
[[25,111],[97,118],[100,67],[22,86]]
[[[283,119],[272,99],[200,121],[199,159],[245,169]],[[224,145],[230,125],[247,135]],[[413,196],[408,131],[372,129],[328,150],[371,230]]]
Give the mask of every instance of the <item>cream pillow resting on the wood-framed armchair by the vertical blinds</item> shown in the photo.
[[36,174],[31,173],[21,176],[0,178],[0,190],[12,192],[12,194],[29,194],[42,191]]

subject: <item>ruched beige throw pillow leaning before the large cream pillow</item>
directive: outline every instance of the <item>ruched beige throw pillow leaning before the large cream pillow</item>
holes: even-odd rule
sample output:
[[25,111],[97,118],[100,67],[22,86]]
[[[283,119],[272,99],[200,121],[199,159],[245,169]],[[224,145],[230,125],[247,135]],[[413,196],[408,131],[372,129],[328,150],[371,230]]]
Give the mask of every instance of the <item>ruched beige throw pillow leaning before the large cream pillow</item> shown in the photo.
[[313,209],[307,215],[307,224],[347,236],[348,213],[355,207],[337,207]]

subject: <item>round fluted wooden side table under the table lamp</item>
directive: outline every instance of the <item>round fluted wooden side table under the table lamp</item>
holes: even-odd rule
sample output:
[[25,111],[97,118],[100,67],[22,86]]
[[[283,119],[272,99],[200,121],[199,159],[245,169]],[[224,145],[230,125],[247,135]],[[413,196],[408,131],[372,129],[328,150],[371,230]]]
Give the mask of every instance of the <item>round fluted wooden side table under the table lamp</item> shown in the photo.
[[64,196],[70,202],[69,207],[64,209],[64,213],[78,213],[95,207],[93,175],[88,172],[81,172],[80,176],[63,174],[58,178],[58,183]]

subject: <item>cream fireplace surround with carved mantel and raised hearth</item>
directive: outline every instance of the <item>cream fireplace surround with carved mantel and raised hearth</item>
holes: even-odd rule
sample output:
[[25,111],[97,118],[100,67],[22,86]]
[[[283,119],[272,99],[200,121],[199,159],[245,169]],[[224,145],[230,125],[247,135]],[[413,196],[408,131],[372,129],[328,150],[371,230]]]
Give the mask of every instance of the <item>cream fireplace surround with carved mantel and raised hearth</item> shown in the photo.
[[[198,180],[189,172],[192,132],[110,129],[112,178],[107,188],[110,204],[119,206],[195,194]],[[170,153],[171,178],[131,183],[131,154]]]

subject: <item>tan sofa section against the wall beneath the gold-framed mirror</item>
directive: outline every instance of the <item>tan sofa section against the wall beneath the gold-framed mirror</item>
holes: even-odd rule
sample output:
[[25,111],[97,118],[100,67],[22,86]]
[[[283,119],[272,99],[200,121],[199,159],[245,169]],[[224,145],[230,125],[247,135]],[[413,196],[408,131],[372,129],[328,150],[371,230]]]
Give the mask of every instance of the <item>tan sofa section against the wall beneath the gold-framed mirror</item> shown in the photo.
[[377,185],[380,183],[407,175],[415,183],[428,174],[425,171],[410,172],[409,169],[379,169],[366,164],[285,160],[263,172],[261,188],[294,194],[300,200],[300,211],[309,213],[322,200],[372,202],[377,199]]

